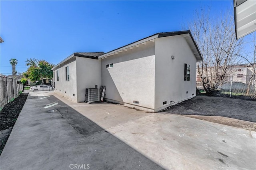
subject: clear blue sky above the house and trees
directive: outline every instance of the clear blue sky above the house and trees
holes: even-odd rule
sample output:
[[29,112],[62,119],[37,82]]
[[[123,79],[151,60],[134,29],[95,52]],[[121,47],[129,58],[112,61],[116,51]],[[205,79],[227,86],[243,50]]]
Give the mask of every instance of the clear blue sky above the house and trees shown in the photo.
[[[26,71],[26,58],[57,64],[74,52],[108,52],[158,32],[183,30],[195,10],[229,1],[0,1],[0,73]],[[249,40],[248,40],[249,41]]]

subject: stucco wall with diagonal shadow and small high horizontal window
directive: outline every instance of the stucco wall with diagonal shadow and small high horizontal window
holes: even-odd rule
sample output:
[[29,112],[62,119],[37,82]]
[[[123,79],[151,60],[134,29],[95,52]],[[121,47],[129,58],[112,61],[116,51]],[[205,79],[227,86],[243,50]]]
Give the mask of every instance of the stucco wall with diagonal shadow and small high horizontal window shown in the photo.
[[[150,42],[101,60],[105,99],[143,110],[154,109],[155,47]],[[106,68],[106,64],[114,67]],[[133,101],[139,101],[134,104]]]

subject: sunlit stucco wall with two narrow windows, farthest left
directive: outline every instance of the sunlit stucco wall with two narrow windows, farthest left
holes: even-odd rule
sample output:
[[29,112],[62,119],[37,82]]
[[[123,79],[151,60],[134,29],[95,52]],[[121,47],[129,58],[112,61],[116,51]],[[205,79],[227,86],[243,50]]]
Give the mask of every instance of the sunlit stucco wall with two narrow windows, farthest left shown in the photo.
[[[70,80],[66,81],[66,69],[69,66]],[[59,71],[59,81],[57,81],[57,70]],[[54,92],[67,97],[68,99],[77,102],[76,91],[76,61],[72,61],[66,65],[62,65],[59,69],[54,71]],[[66,93],[65,93],[66,92]]]

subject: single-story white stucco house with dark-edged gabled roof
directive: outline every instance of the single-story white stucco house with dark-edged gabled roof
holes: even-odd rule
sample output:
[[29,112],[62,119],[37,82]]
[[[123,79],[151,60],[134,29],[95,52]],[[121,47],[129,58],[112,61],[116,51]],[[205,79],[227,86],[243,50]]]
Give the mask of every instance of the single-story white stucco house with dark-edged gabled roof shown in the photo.
[[52,68],[54,87],[84,102],[86,88],[106,86],[106,101],[156,112],[196,95],[197,61],[190,31],[158,33],[108,53],[73,53]]

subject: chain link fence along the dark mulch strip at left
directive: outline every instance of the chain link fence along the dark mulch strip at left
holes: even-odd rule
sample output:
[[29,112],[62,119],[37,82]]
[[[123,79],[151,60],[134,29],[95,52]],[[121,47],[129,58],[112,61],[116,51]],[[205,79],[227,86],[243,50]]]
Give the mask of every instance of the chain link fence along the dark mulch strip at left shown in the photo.
[[0,109],[17,98],[22,89],[23,85],[17,84],[17,79],[0,76]]

